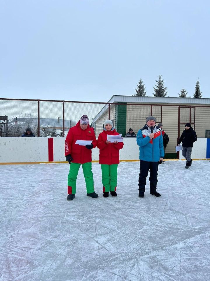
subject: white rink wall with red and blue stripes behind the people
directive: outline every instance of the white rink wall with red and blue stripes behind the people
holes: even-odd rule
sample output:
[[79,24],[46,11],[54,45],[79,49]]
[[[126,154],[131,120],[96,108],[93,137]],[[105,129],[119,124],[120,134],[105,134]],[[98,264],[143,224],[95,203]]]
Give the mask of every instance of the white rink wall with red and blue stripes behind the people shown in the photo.
[[[0,164],[65,162],[64,142],[65,138],[1,137]],[[124,138],[123,142],[120,160],[139,160],[139,146],[136,144],[136,138]],[[192,159],[209,158],[206,157],[208,156],[206,143],[206,138],[198,138],[193,146]],[[51,158],[49,158],[49,151],[51,151]],[[182,153],[180,153],[180,159],[184,159]],[[99,160],[98,148],[92,150],[92,160]]]

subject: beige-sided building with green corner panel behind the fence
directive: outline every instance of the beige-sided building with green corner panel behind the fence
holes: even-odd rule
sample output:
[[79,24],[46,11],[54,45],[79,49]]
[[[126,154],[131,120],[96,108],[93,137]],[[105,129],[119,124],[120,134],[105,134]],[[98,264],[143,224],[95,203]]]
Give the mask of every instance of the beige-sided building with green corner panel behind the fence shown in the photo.
[[175,146],[185,123],[191,123],[198,138],[210,137],[210,99],[113,95],[108,103],[111,103],[110,108],[106,104],[92,120],[96,137],[103,130],[106,119],[111,119],[116,131],[125,136],[129,128],[135,133],[143,128],[150,115],[156,117],[156,125],[163,124],[169,136],[166,158],[177,157]]

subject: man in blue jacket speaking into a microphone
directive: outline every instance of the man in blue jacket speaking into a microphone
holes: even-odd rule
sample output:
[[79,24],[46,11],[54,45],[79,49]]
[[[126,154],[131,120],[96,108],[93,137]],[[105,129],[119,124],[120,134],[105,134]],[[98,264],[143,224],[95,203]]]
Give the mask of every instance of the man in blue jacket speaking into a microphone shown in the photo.
[[136,142],[139,145],[140,174],[139,197],[144,197],[146,178],[150,170],[150,194],[161,196],[156,191],[158,165],[163,161],[164,149],[161,132],[155,126],[156,119],[149,116],[146,125],[137,133]]

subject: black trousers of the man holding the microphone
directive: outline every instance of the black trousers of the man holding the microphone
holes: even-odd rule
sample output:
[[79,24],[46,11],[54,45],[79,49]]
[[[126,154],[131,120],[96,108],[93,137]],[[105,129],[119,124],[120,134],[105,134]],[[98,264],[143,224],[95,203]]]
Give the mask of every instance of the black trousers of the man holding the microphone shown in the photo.
[[159,162],[147,162],[140,160],[140,174],[139,174],[139,193],[145,192],[146,178],[150,171],[150,191],[156,191],[157,186],[157,171]]

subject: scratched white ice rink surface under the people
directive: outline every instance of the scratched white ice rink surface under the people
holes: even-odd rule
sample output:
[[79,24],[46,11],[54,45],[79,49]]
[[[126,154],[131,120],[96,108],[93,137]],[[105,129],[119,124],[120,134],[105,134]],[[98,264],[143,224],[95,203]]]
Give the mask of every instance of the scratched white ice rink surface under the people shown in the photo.
[[121,162],[104,198],[93,163],[99,198],[81,168],[67,201],[69,164],[1,165],[0,281],[210,280],[210,162],[184,166],[160,165],[161,197],[139,198],[139,162]]

